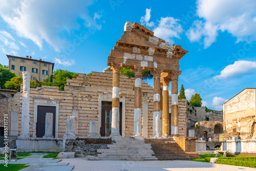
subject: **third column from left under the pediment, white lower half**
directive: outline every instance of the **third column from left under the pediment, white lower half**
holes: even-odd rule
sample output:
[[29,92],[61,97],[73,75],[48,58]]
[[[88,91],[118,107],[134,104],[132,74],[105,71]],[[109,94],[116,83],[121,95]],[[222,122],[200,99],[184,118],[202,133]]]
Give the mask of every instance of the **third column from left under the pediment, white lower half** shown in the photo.
[[162,70],[154,69],[154,103],[153,103],[153,136],[152,138],[162,138],[161,133],[161,103],[160,103],[160,74]]

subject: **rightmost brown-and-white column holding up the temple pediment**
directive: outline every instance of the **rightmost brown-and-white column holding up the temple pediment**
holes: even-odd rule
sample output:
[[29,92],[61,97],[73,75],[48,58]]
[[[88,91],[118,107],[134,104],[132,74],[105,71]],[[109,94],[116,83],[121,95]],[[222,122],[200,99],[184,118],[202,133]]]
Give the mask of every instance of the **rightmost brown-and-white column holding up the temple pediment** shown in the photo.
[[179,137],[178,78],[181,71],[172,71],[172,113],[170,115],[173,137]]

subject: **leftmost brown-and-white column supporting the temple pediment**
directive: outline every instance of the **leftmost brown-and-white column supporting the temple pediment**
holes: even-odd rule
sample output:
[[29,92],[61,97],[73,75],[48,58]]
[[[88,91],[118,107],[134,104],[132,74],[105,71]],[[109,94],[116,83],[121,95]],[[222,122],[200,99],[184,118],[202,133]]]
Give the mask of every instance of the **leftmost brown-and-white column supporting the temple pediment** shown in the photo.
[[113,63],[111,70],[113,72],[113,93],[112,93],[112,122],[111,122],[111,137],[119,137],[119,77],[120,77],[121,64]]

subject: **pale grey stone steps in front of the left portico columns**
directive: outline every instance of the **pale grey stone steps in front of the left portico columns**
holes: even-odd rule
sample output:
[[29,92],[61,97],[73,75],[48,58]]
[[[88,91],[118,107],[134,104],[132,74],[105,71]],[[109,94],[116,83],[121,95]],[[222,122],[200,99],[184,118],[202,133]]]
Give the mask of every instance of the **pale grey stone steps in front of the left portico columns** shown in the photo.
[[144,140],[134,138],[112,138],[113,144],[108,144],[109,149],[98,149],[96,160],[157,160],[151,149],[151,144]]

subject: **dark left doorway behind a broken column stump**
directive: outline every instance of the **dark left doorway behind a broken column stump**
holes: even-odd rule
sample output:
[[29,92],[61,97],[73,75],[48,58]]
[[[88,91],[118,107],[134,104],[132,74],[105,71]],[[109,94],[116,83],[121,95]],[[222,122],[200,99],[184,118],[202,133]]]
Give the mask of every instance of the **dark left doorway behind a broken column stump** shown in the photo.
[[41,138],[45,135],[46,113],[53,113],[53,130],[52,134],[55,137],[55,121],[56,107],[55,106],[37,106],[37,122],[36,122],[36,137]]

